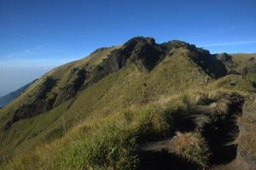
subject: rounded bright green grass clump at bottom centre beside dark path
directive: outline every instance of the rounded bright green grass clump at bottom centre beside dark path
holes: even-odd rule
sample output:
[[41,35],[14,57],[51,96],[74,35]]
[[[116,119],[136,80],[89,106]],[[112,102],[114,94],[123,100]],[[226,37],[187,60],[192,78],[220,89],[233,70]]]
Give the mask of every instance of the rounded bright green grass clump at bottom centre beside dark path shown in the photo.
[[65,169],[134,169],[137,156],[131,132],[109,126],[85,136],[67,148],[62,167]]

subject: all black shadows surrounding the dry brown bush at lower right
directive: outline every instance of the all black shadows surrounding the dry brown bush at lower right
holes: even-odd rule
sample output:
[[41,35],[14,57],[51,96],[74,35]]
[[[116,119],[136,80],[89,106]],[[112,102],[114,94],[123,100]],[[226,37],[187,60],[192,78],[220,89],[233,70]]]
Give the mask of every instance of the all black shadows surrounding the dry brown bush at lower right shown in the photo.
[[[228,102],[229,109],[222,114],[211,112],[205,113],[200,111],[177,111],[172,112],[172,126],[175,127],[170,133],[169,139],[176,132],[200,132],[206,139],[211,156],[209,157],[209,166],[214,167],[221,164],[228,164],[236,159],[237,144],[235,143],[239,135],[239,126],[237,119],[242,114],[242,105],[244,99],[241,96],[231,96]],[[209,110],[210,108],[208,108]],[[209,116],[211,121],[201,124],[196,121],[199,116]],[[170,122],[171,124],[171,122]],[[142,170],[156,169],[178,169],[178,170],[193,170],[201,169],[196,164],[186,160],[183,157],[175,155],[174,152],[168,150],[169,143],[166,139],[154,140],[153,144],[146,144],[147,150],[141,150],[139,155],[140,167]]]

